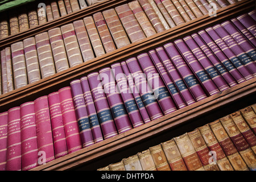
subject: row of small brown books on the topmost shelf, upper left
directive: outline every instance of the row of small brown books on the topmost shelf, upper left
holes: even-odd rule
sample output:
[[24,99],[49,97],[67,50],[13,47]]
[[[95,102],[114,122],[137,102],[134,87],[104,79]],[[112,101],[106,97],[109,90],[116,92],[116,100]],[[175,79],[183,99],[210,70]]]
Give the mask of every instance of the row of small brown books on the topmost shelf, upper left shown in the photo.
[[[102,0],[55,0],[30,3],[1,13],[0,39],[27,31]],[[28,6],[28,7],[27,7]]]

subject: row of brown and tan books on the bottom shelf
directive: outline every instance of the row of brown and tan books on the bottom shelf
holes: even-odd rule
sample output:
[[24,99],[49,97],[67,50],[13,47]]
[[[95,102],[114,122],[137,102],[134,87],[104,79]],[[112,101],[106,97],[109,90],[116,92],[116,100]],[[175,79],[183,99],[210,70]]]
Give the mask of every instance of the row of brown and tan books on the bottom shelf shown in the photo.
[[256,170],[256,104],[98,171]]

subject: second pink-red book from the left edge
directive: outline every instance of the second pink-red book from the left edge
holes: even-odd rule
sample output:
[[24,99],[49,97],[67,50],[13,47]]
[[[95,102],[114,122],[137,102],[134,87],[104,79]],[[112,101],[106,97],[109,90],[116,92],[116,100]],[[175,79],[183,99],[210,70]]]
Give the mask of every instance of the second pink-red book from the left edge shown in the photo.
[[21,171],[20,107],[8,110],[6,171]]

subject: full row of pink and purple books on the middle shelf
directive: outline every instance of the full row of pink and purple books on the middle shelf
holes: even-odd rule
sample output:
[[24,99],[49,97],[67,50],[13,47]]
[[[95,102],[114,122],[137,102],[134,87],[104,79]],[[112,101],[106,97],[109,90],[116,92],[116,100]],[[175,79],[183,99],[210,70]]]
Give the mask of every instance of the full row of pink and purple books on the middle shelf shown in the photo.
[[[254,78],[255,61],[249,55],[255,56],[250,54],[255,47],[238,54],[246,57],[243,64],[233,48],[241,51],[252,44],[238,30],[232,35],[241,35],[242,44],[234,44],[225,31],[234,25],[222,24],[89,73],[2,113],[1,131],[7,137],[1,138],[1,168],[30,169]],[[38,158],[39,152],[44,158]]]

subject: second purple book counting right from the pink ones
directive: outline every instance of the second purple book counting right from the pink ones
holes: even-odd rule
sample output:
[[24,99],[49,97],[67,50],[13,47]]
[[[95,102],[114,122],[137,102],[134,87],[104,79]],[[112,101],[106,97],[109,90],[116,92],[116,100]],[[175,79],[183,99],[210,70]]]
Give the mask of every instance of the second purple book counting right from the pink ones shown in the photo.
[[91,129],[92,129],[94,143],[98,143],[103,140],[103,137],[102,137],[100,122],[98,121],[97,111],[95,109],[94,102],[93,102],[92,92],[90,92],[88,78],[86,76],[80,78],[80,83],[82,86],[82,93],[84,95],[86,111],[88,114]]

